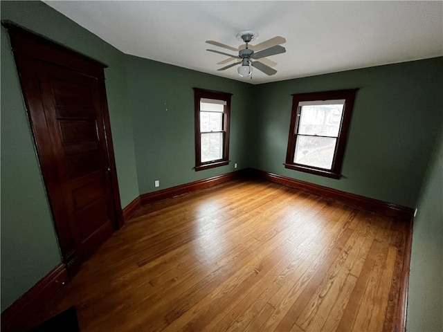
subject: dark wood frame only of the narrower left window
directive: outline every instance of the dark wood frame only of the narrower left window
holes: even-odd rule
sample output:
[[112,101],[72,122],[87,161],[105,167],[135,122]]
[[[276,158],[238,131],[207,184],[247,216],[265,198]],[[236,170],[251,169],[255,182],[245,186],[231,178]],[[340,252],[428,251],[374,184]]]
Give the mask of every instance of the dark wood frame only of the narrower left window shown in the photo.
[[[229,136],[230,136],[230,98],[233,94],[221,91],[194,88],[195,109],[195,171],[228,165],[229,160]],[[221,159],[201,162],[201,131],[200,131],[200,100],[201,98],[224,100],[223,112],[223,155]]]

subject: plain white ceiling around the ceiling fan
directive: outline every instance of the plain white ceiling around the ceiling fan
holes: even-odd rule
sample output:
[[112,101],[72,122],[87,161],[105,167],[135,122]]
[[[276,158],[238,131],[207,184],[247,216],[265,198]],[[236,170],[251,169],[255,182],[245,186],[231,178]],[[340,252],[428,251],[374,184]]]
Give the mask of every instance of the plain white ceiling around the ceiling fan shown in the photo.
[[[443,55],[443,1],[45,1],[123,53],[252,84],[406,62]],[[242,78],[237,67],[206,51],[212,39],[241,44],[277,35],[286,53],[273,76],[257,69]],[[254,43],[251,43],[254,44]]]

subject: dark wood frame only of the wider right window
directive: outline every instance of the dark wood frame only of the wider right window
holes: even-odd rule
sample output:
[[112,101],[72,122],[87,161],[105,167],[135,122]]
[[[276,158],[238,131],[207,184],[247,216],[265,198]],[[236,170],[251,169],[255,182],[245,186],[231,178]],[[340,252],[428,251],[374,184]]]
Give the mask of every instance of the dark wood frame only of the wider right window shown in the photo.
[[[326,176],[328,178],[341,178],[341,169],[343,167],[343,157],[345,154],[345,147],[347,136],[349,134],[350,122],[352,116],[352,109],[354,109],[354,100],[356,91],[358,89],[336,90],[336,91],[321,91],[313,93],[294,93],[292,95],[292,110],[291,110],[291,124],[289,126],[289,137],[286,153],[286,162],[284,167],[294,169],[300,172]],[[332,159],[331,169],[324,169],[309,165],[298,164],[294,162],[294,155],[296,150],[296,140],[298,136],[298,124],[300,120],[301,107],[299,102],[315,102],[324,100],[345,100],[343,105],[343,115],[341,118],[340,129],[338,130],[336,147],[334,150],[334,158]]]

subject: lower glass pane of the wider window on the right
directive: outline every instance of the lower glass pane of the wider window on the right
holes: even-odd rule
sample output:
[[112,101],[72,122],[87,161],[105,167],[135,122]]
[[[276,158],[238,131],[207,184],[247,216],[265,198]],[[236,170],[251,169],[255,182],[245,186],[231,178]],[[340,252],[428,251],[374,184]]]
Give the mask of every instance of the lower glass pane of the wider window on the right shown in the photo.
[[336,138],[297,136],[294,163],[331,169]]

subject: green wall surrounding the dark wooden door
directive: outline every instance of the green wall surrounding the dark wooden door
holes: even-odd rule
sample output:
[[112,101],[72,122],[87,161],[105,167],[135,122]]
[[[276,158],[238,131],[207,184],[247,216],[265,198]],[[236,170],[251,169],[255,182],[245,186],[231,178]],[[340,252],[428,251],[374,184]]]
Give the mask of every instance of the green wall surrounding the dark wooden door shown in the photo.
[[[123,206],[138,192],[123,53],[40,1],[1,1],[8,19],[98,59],[105,70]],[[1,311],[61,261],[8,34],[1,28]]]

